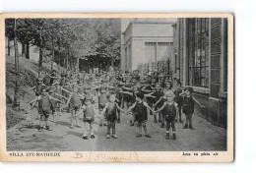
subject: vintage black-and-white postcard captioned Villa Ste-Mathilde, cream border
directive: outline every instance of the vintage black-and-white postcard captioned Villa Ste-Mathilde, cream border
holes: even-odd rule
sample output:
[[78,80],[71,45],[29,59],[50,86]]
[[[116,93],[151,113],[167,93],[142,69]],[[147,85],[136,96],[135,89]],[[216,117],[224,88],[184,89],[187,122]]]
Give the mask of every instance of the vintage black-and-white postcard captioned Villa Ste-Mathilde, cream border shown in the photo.
[[0,15],[0,160],[232,162],[233,16]]

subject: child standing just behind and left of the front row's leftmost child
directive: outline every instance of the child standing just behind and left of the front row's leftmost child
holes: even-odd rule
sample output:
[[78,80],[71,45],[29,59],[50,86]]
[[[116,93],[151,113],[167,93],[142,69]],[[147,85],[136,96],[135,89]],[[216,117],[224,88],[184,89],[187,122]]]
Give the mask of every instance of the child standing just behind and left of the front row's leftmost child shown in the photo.
[[73,91],[69,95],[68,101],[66,103],[66,107],[69,106],[69,110],[71,111],[71,117],[70,117],[70,129],[73,129],[73,119],[76,121],[76,127],[80,128],[81,126],[78,124],[78,117],[75,116],[77,112],[81,108],[81,99],[78,92],[78,87],[74,87]]

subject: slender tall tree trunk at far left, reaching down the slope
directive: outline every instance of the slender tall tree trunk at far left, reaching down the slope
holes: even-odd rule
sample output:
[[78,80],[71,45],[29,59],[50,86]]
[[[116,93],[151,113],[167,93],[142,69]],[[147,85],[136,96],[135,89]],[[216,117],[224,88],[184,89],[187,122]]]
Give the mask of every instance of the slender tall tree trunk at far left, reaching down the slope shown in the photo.
[[14,104],[13,107],[15,110],[20,109],[20,100],[19,100],[19,57],[18,57],[18,45],[16,37],[16,20],[14,20],[14,57],[15,57],[15,69],[16,69],[16,81],[14,89]]

